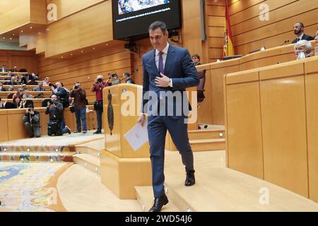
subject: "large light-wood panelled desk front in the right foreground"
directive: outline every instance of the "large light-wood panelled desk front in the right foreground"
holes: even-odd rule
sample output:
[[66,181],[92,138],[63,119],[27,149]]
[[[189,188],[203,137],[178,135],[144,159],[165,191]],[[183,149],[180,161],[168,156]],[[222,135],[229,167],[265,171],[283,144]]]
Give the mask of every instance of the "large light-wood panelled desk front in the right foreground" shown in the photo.
[[318,56],[224,78],[227,165],[318,202]]

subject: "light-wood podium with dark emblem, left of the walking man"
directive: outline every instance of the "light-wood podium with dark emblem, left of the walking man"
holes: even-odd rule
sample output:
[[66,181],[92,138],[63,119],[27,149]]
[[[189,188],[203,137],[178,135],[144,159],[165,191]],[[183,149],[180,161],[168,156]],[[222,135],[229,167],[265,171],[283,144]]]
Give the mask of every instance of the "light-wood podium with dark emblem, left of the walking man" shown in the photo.
[[106,149],[100,155],[100,175],[102,184],[122,199],[136,198],[135,186],[151,186],[149,144],[134,151],[124,138],[137,123],[141,97],[141,85],[124,83],[103,90]]

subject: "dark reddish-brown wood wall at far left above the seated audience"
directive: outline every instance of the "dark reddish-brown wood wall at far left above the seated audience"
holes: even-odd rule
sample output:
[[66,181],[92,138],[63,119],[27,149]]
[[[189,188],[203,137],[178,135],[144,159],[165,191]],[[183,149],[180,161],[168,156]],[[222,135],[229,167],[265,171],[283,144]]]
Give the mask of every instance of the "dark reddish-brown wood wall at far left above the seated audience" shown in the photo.
[[15,51],[0,49],[0,65],[6,64],[7,69],[28,69],[28,72],[37,73],[37,60],[34,51]]

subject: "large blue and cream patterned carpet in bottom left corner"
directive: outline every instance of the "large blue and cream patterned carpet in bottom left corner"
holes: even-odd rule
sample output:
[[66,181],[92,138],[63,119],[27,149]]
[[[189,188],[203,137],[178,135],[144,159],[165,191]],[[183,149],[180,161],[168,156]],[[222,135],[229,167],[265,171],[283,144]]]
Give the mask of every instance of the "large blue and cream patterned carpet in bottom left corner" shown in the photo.
[[57,179],[72,164],[0,162],[0,212],[66,211]]

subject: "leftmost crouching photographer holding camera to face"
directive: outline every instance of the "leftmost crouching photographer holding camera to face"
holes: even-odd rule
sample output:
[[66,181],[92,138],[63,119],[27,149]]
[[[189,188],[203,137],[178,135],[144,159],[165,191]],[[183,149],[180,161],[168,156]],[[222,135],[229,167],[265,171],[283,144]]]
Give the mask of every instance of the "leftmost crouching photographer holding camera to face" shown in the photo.
[[35,111],[33,105],[28,105],[23,122],[31,138],[41,136],[40,112]]

